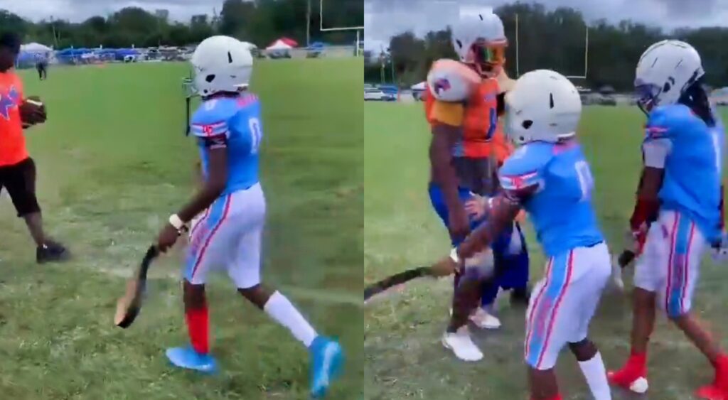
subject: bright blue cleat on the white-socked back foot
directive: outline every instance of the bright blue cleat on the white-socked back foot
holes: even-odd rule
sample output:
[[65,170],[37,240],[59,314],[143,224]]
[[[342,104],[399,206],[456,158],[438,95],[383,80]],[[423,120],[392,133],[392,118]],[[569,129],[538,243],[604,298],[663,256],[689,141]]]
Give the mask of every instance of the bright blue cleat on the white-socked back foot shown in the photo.
[[309,347],[311,353],[311,396],[326,396],[331,381],[341,374],[344,367],[344,350],[336,340],[317,336]]

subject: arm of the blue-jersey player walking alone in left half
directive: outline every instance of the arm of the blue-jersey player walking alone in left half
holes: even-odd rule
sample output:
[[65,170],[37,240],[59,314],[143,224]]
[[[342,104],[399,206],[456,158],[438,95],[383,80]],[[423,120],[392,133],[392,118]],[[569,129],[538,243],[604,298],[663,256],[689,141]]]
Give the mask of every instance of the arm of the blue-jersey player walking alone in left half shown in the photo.
[[198,140],[202,142],[204,151],[207,152],[207,179],[192,199],[177,213],[184,222],[192,220],[195,215],[210,207],[225,190],[228,178],[226,133],[199,137]]

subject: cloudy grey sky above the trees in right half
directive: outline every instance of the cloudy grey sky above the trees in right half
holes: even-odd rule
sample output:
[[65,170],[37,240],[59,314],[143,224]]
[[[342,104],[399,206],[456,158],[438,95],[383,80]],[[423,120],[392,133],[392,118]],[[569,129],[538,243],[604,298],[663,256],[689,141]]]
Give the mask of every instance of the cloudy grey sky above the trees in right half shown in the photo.
[[[2,0],[0,0],[1,4]],[[497,7],[509,0],[365,0],[365,47],[379,49],[389,37],[407,30],[424,33],[457,20],[460,6]],[[548,8],[581,10],[587,20],[630,19],[660,25],[728,26],[728,0],[539,0]],[[385,45],[386,47],[386,45]]]

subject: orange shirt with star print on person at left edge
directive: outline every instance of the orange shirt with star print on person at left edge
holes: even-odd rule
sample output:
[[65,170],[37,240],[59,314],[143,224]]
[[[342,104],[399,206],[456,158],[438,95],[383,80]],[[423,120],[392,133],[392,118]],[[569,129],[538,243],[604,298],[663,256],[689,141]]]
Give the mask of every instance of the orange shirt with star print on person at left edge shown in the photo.
[[0,167],[28,158],[20,109],[23,83],[14,71],[0,73]]

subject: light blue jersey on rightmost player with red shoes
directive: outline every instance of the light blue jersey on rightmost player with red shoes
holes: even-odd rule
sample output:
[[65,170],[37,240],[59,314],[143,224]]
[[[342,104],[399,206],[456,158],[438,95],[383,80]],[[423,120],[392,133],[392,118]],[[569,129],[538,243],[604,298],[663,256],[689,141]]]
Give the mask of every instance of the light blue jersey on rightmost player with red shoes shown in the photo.
[[643,145],[665,149],[660,207],[687,215],[710,242],[721,238],[723,135],[686,105],[665,105],[649,114]]

